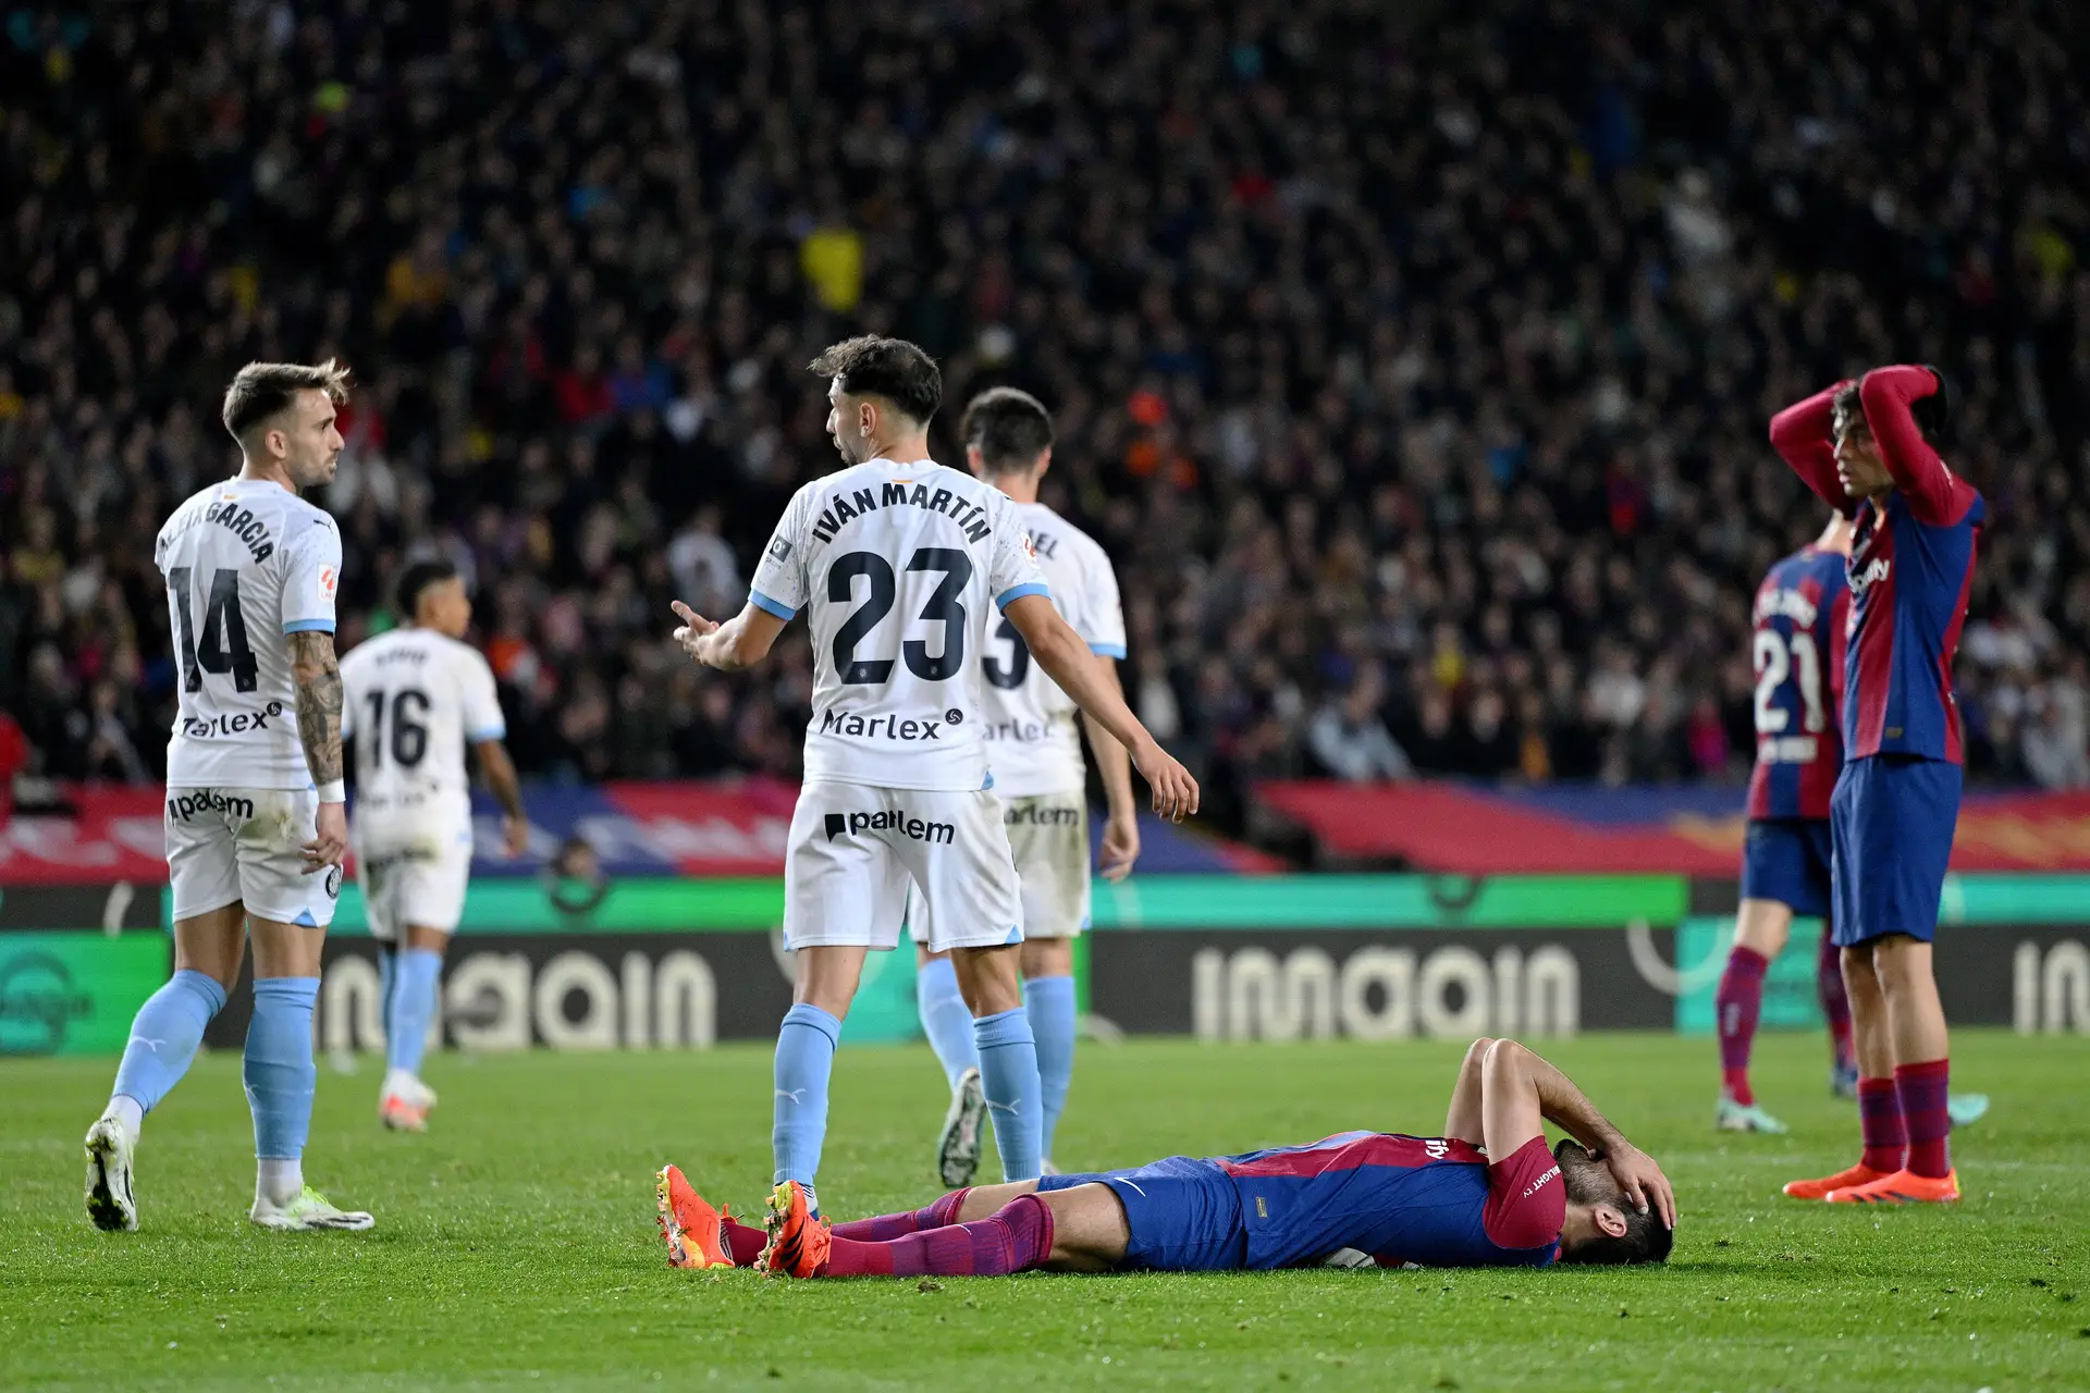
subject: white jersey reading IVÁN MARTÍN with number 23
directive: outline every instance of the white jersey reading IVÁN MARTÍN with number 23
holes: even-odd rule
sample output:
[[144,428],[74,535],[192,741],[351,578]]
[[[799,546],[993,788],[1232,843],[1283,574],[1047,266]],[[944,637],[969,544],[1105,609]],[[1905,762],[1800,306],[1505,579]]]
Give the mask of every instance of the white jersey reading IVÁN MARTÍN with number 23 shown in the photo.
[[1016,503],[930,459],[872,459],[798,489],[750,601],[809,610],[807,783],[978,789],[993,610],[1045,595]]

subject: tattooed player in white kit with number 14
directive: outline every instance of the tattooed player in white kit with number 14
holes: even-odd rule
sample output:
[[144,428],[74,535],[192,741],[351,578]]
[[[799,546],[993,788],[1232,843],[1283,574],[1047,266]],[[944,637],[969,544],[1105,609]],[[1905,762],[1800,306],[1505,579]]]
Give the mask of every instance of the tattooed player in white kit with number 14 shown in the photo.
[[341,401],[347,372],[332,359],[240,368],[224,405],[240,472],[182,503],[153,549],[180,668],[165,819],[173,977],[138,1009],[109,1107],[88,1130],[98,1228],[138,1228],[132,1155],[144,1113],[188,1071],[249,940],[249,1218],[276,1230],[372,1224],[303,1174],[318,1082],[311,1009],[349,823],[334,664],[341,533],[297,491],[334,476]]

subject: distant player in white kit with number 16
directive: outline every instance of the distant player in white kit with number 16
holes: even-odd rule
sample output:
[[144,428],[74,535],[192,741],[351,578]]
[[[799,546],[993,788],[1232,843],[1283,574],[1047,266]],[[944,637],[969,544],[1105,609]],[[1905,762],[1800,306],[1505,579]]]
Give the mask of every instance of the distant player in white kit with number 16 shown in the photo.
[[464,748],[479,754],[502,804],[510,856],[529,821],[493,668],[464,643],[472,599],[449,562],[414,562],[395,589],[399,629],[357,643],[341,660],[347,704],[341,737],[355,741],[355,875],[378,940],[385,998],[385,1084],[378,1119],[426,1132],[435,1090],[420,1057],[435,1019],[443,950],[464,913],[472,875],[472,783]]

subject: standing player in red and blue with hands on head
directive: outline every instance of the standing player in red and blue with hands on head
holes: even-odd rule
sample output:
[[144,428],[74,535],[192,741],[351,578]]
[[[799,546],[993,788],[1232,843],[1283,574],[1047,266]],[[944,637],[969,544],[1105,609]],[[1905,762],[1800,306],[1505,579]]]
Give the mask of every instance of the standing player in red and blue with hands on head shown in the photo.
[[1956,1201],[1946,1015],[1931,938],[1960,802],[1952,656],[1988,507],[1940,459],[1933,368],[1875,368],[1770,422],[1814,493],[1854,518],[1833,927],[1858,1042],[1858,1165],[1785,1186],[1831,1203]]

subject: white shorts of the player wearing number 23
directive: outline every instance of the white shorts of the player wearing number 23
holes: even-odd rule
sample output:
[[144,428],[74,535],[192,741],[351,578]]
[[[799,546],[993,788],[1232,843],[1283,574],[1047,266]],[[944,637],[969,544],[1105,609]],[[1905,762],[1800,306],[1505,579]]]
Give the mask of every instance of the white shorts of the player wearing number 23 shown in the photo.
[[936,952],[1024,940],[993,794],[828,781],[798,789],[784,852],[786,946],[897,948],[909,886],[922,888]]

